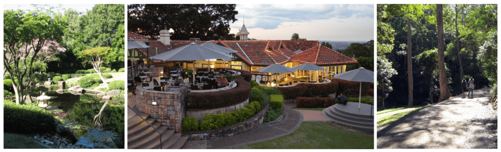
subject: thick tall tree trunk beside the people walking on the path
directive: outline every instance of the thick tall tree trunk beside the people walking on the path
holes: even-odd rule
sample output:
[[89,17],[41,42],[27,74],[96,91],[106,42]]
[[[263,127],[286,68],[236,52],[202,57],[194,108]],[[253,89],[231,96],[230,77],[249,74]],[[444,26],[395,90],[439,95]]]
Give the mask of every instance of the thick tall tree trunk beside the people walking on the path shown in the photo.
[[445,75],[444,62],[444,42],[443,42],[443,20],[442,20],[442,4],[437,4],[437,26],[438,26],[438,77],[440,79],[440,98],[438,101],[443,101],[450,97],[449,86],[447,85],[447,77]]

